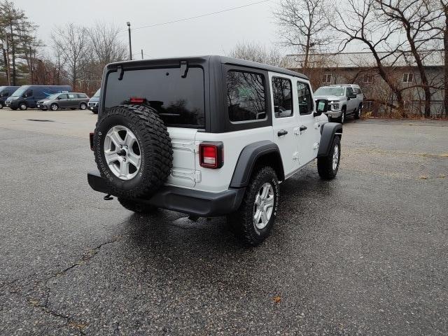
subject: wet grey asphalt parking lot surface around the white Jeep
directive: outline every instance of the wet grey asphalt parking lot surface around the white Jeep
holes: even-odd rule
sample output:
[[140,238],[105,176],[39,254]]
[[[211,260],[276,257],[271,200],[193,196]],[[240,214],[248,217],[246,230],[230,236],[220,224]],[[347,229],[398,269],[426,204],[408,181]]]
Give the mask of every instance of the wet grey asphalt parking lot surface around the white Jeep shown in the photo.
[[102,200],[95,121],[0,110],[0,335],[447,335],[447,122],[349,120],[337,179],[283,183],[246,248]]

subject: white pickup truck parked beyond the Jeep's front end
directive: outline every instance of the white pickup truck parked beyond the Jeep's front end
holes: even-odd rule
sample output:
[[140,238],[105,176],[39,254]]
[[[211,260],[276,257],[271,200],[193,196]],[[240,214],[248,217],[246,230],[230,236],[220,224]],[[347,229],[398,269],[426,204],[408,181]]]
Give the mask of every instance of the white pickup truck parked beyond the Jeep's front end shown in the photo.
[[322,86],[314,92],[314,96],[316,99],[328,100],[328,111],[325,114],[337,123],[343,124],[348,116],[353,116],[355,119],[361,116],[364,94],[359,85]]

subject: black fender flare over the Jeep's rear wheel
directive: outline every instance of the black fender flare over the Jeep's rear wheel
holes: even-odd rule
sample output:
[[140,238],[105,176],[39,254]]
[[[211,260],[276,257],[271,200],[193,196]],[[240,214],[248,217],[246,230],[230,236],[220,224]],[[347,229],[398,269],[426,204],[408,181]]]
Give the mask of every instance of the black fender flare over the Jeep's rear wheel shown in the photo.
[[253,144],[248,144],[239,154],[232,181],[230,181],[230,188],[244,188],[248,186],[257,160],[265,155],[272,154],[276,156],[276,160],[279,160],[272,162],[277,163],[280,168],[277,169],[277,174],[280,175],[277,178],[279,181],[283,181],[285,179],[285,173],[283,171],[283,162],[281,161],[279,146],[269,140],[257,141]]

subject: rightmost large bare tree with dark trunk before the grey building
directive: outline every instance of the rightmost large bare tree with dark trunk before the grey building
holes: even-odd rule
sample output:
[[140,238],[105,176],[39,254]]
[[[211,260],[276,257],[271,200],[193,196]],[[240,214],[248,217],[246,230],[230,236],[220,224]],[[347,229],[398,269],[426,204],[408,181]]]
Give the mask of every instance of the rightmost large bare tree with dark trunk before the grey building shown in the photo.
[[[419,71],[421,83],[419,86],[424,92],[424,114],[430,117],[431,90],[424,58],[430,53],[430,43],[440,37],[440,29],[435,29],[435,22],[442,18],[442,10],[435,0],[376,0],[381,10],[380,19],[384,25],[395,25],[395,22],[404,31],[407,43],[403,45],[408,49]],[[407,50],[400,50],[403,57]]]

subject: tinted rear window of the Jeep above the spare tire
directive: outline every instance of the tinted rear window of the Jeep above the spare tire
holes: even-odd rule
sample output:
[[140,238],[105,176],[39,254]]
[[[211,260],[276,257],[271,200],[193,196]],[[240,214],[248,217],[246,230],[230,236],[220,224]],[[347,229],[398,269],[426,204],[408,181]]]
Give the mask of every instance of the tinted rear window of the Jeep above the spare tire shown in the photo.
[[180,68],[128,70],[109,73],[104,108],[146,99],[165,125],[204,127],[204,71],[190,67],[186,78]]

